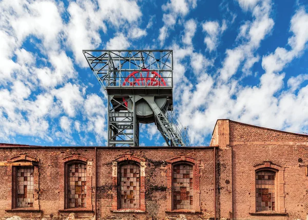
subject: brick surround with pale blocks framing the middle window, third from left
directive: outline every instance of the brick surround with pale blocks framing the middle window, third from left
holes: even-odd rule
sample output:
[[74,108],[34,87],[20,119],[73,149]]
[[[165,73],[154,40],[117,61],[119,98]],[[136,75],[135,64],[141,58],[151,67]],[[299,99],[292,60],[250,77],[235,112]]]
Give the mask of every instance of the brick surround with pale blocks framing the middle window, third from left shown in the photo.
[[[137,208],[124,208],[121,209],[119,204],[119,168],[120,166],[127,162],[131,161],[132,163],[136,163],[140,165],[140,207]],[[115,161],[112,162],[112,212],[145,212],[145,159],[135,157],[132,153],[125,153],[125,155],[116,158]]]

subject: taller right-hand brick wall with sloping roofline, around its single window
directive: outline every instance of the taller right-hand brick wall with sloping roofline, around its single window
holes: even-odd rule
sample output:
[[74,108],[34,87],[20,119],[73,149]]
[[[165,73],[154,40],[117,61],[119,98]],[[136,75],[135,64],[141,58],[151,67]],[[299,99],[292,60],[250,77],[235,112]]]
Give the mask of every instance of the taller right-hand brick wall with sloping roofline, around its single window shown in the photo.
[[[308,210],[308,136],[284,133],[229,121],[233,160],[233,217],[249,219],[306,219]],[[301,158],[303,162],[298,162]],[[277,165],[280,211],[287,215],[252,215],[255,212],[255,168]],[[264,165],[260,165],[264,166]],[[273,165],[274,166],[274,165]],[[278,178],[278,176],[277,176]],[[284,196],[284,197],[283,197]],[[284,201],[284,204],[282,204]],[[278,208],[278,207],[277,207]]]

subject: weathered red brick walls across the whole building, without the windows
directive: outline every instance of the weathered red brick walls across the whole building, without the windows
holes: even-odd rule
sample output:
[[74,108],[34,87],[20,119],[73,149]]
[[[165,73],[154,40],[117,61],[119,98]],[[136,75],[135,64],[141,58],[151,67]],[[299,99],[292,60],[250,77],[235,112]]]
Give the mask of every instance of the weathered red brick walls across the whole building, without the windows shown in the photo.
[[[95,166],[97,166],[98,219],[213,219],[214,217],[214,146],[216,153],[217,219],[307,219],[308,136],[284,133],[229,120],[218,120],[211,147],[139,147],[97,148],[97,165],[93,147],[27,147],[0,146],[0,216],[63,219],[64,167],[69,157],[87,161],[87,209],[75,212],[76,218],[91,219],[94,210]],[[11,158],[27,153],[38,160],[40,212],[12,212]],[[117,194],[112,167],[120,157],[140,158],[145,167],[145,212],[114,212],[112,202]],[[200,212],[170,212],[170,161],[195,161],[200,172]],[[299,160],[301,159],[301,160]],[[18,160],[17,160],[18,161]],[[34,160],[35,162],[35,160]],[[37,162],[35,162],[37,163]],[[195,167],[197,168],[197,167]],[[276,170],[276,214],[256,213],[255,172]],[[197,173],[194,172],[194,173]],[[194,174],[195,175],[195,174]],[[196,182],[195,182],[196,183]],[[112,185],[113,184],[113,185]],[[194,186],[194,189],[198,187]],[[91,192],[90,192],[91,191]],[[195,192],[194,192],[195,193]],[[199,193],[199,192],[198,192]],[[194,194],[195,195],[195,194]],[[194,203],[196,201],[194,199]],[[114,205],[114,204],[113,204]],[[116,206],[115,206],[116,207]],[[199,206],[195,206],[199,209]],[[258,215],[257,215],[258,214]]]

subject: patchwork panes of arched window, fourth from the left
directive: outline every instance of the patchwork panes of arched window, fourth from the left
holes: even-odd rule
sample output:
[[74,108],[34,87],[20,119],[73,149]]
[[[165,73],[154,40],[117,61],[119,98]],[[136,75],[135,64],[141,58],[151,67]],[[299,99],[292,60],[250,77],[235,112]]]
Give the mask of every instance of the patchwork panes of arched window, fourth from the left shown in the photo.
[[175,165],[172,175],[173,209],[193,209],[192,166],[188,164]]

